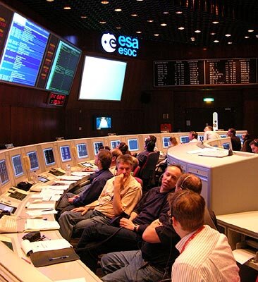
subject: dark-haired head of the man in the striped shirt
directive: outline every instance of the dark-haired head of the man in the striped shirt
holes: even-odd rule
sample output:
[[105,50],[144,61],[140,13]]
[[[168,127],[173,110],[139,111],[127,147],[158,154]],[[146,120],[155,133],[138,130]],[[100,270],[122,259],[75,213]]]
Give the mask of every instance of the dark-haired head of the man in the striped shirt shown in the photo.
[[178,235],[178,231],[190,233],[203,226],[205,201],[201,195],[190,190],[180,190],[168,195],[168,203],[173,227]]

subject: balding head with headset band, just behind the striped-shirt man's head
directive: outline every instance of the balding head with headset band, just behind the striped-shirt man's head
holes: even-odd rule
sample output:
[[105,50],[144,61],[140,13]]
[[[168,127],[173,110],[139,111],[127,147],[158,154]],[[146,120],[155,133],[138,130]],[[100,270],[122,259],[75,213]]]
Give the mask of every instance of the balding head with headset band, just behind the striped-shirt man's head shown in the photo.
[[191,190],[198,194],[202,192],[202,180],[192,173],[184,173],[176,183],[176,191]]

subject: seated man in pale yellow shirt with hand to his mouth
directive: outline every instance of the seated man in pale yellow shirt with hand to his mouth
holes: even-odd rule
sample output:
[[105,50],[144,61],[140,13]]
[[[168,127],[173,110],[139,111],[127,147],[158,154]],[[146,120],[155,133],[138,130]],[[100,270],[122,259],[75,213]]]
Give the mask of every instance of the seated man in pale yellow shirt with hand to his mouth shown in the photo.
[[117,176],[106,181],[97,201],[61,214],[59,232],[63,238],[70,240],[73,231],[85,228],[92,222],[109,225],[116,216],[133,211],[142,197],[140,183],[131,176],[133,157],[124,154],[118,157],[116,164]]

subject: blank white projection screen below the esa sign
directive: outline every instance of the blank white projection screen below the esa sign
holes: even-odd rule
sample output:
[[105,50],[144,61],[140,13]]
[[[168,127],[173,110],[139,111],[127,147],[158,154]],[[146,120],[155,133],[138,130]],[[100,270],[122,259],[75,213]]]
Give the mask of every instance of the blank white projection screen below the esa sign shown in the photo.
[[121,101],[126,63],[85,56],[79,99]]

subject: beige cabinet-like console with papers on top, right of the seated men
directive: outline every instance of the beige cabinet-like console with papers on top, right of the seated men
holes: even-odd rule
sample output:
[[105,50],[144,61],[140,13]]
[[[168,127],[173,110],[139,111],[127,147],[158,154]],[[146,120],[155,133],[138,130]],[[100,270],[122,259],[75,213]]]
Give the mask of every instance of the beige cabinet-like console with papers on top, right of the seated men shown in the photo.
[[197,143],[171,147],[168,163],[202,179],[202,195],[216,215],[257,210],[258,154],[235,151],[227,157],[204,157],[198,153],[202,150]]

